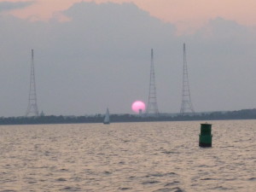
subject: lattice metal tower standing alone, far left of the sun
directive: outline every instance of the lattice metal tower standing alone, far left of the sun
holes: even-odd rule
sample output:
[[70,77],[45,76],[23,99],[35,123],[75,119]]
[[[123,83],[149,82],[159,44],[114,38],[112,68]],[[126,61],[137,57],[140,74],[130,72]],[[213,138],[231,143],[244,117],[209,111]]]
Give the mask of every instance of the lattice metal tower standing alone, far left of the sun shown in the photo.
[[36,79],[34,69],[34,51],[32,49],[32,63],[30,72],[30,90],[28,96],[28,106],[26,109],[26,116],[38,116],[37,92],[36,92]]

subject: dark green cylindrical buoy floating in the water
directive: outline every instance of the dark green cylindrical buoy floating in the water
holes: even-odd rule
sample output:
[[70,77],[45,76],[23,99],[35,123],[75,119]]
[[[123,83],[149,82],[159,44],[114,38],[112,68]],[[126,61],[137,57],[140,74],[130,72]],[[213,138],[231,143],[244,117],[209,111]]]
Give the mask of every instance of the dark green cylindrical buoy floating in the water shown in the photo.
[[199,146],[202,148],[212,147],[212,125],[201,124],[201,134],[199,135]]

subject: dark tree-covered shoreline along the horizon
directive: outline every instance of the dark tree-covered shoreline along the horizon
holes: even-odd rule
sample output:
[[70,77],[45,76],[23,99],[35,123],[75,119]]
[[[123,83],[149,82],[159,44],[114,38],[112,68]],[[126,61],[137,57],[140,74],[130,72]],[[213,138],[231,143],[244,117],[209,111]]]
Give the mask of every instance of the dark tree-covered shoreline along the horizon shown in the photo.
[[[38,117],[1,117],[0,125],[44,125],[44,124],[82,124],[102,123],[104,115],[94,116],[38,116]],[[144,117],[134,114],[111,114],[111,123],[125,122],[156,122],[156,121],[193,121],[193,120],[235,120],[256,119],[256,109],[242,109],[229,112],[195,113],[186,115],[160,115]]]

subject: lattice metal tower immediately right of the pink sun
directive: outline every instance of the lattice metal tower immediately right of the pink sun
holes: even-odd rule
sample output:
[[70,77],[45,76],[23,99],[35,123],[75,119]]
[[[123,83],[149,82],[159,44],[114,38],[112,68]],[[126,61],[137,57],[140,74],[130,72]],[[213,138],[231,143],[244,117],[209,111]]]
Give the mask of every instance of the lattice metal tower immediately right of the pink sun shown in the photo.
[[148,94],[148,107],[146,110],[147,116],[158,116],[159,111],[156,102],[156,87],[154,82],[154,54],[151,49],[151,67],[150,67],[150,79],[149,79],[149,94]]

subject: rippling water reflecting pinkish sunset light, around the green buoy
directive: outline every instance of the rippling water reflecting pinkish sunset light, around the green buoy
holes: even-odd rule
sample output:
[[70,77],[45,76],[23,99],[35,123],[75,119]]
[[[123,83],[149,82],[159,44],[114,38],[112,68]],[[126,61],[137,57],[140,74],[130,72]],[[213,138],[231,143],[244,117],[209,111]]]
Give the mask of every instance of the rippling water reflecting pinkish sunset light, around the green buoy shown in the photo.
[[256,190],[256,120],[0,126],[0,191]]

